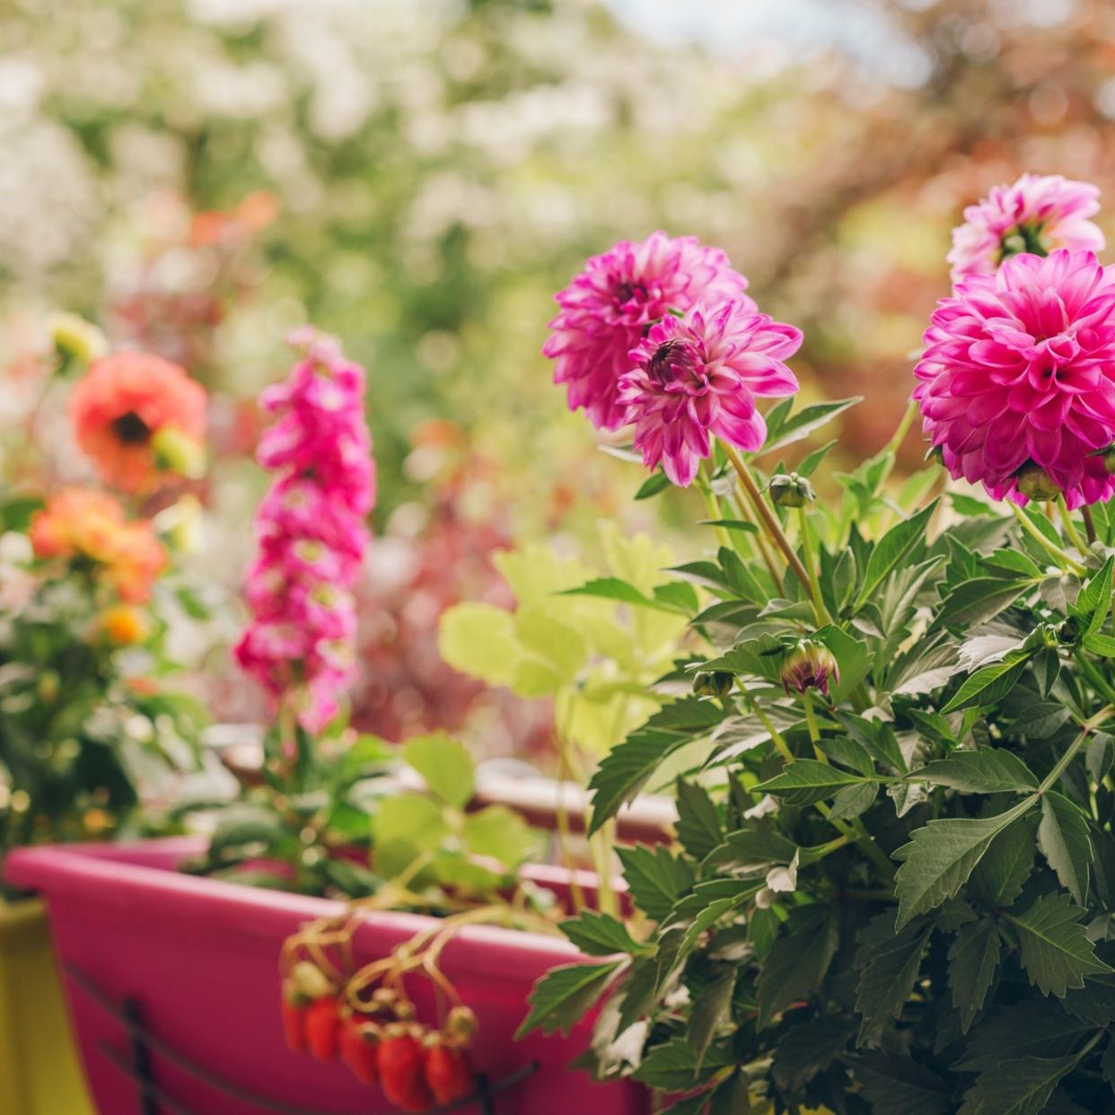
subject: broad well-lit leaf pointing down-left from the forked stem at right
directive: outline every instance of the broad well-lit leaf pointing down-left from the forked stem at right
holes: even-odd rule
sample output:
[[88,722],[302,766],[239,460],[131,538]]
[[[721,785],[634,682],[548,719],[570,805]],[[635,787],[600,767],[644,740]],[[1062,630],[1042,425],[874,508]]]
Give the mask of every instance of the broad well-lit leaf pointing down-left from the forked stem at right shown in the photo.
[[991,841],[1032,804],[1032,798],[1027,798],[993,817],[930,821],[911,833],[910,843],[894,853],[894,859],[903,861],[894,885],[899,899],[896,928],[952,898],[968,881]]

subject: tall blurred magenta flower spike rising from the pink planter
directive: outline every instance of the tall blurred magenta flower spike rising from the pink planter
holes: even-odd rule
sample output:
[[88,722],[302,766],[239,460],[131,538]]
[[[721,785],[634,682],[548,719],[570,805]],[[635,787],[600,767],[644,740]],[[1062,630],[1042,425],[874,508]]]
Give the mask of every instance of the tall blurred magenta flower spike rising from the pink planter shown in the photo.
[[235,656],[273,698],[295,699],[307,730],[320,731],[351,678],[352,590],[368,545],[376,469],[363,369],[313,330],[290,342],[301,359],[260,396],[275,421],[256,459],[275,475],[255,513],[258,556],[246,588],[253,618]]

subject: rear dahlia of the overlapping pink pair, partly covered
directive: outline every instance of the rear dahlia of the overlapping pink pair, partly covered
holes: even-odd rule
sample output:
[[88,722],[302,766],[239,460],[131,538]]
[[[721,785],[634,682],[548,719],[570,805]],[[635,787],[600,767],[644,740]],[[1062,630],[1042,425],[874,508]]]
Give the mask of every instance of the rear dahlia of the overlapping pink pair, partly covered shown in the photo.
[[627,407],[619,399],[620,377],[630,369],[628,353],[647,329],[671,310],[698,302],[736,299],[752,310],[747,280],[734,271],[718,248],[696,236],[670,239],[656,232],[642,243],[621,241],[594,255],[563,291],[561,312],[542,349],[555,361],[554,382],[565,384],[569,407],[584,407],[598,429],[617,429]]

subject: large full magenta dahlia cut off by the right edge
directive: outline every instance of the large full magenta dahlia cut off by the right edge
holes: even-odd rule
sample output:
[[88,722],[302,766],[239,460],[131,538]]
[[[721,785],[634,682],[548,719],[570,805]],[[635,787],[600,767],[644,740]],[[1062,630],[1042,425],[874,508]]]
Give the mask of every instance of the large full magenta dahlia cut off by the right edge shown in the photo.
[[1115,270],[1092,252],[1015,255],[942,299],[924,341],[913,395],[953,477],[1025,503],[1034,462],[1069,507],[1108,498],[1092,454],[1115,435]]

